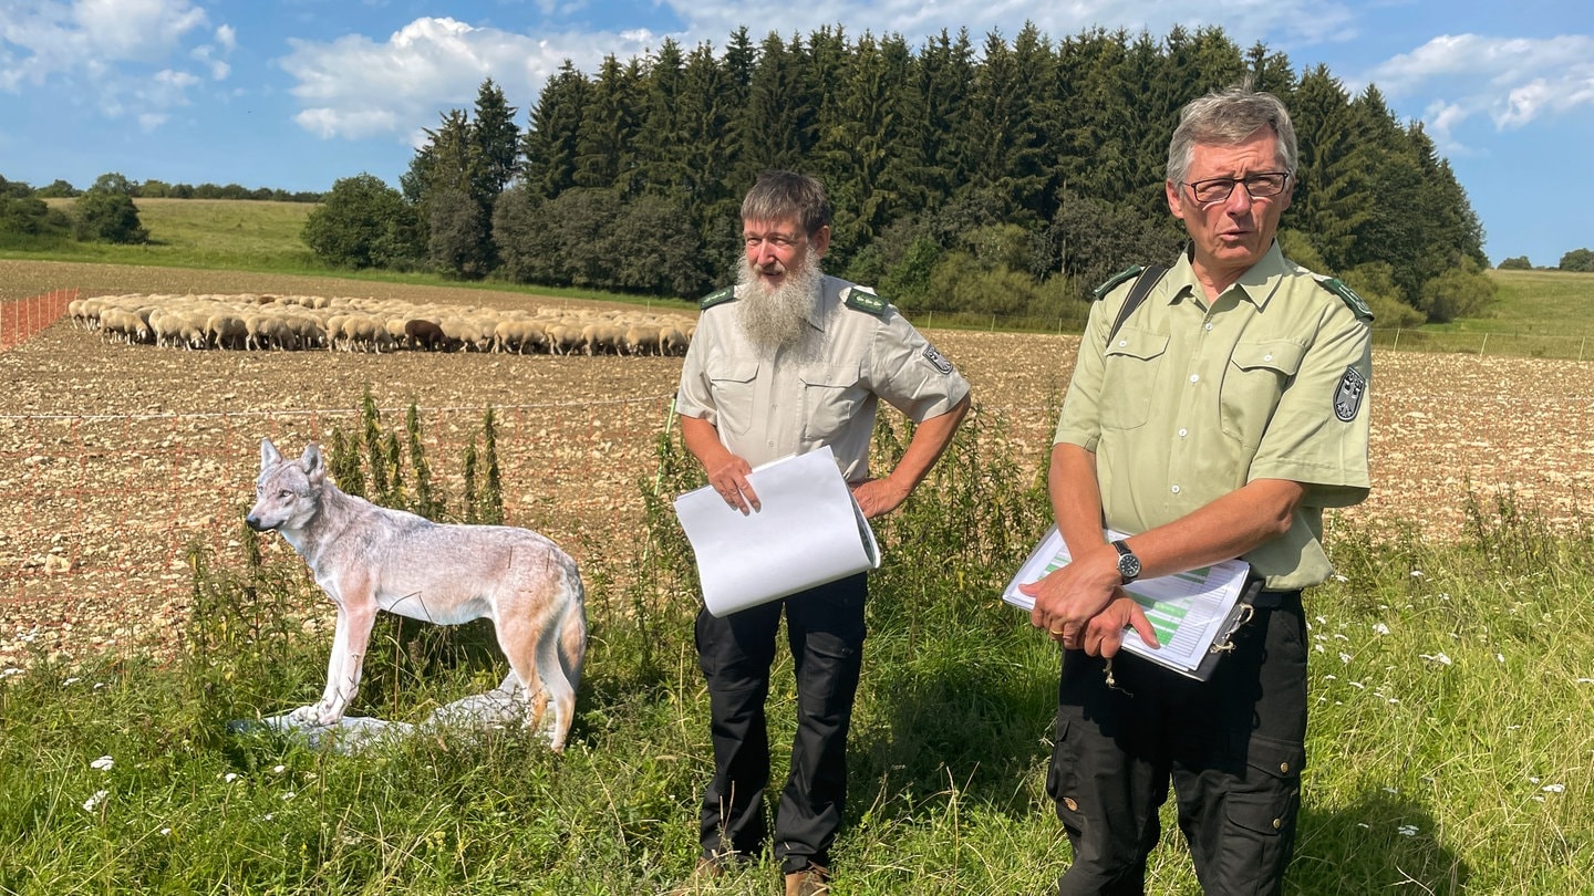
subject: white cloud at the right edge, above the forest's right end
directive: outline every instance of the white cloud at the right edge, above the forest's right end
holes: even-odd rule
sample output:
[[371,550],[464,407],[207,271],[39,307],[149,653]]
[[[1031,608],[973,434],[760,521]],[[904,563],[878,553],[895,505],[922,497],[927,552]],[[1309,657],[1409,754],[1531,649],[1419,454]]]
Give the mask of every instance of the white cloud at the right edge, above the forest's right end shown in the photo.
[[1441,148],[1487,118],[1497,131],[1594,110],[1594,37],[1441,35],[1374,67],[1366,81],[1390,97],[1430,97],[1425,123]]

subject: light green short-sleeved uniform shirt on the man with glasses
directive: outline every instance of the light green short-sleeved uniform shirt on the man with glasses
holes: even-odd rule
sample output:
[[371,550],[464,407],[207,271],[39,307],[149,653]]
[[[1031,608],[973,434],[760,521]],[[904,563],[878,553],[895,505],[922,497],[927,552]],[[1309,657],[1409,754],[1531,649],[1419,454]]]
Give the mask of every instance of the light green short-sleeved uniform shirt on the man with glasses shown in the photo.
[[1293,480],[1290,532],[1243,560],[1269,588],[1325,580],[1323,509],[1369,489],[1371,317],[1274,244],[1211,306],[1181,258],[1108,344],[1130,285],[1092,309],[1055,435],[1095,453],[1106,525],[1141,532]]

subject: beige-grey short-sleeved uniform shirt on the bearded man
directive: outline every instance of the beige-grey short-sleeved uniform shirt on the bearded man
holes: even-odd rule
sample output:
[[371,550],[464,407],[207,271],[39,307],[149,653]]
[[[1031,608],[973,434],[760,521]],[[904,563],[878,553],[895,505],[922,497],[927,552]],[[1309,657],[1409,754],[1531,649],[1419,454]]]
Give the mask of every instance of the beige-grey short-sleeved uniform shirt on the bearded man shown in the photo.
[[846,481],[869,477],[880,399],[915,422],[947,413],[968,381],[896,308],[862,290],[878,314],[846,306],[846,281],[824,277],[808,325],[819,348],[773,357],[748,341],[736,303],[703,309],[681,370],[676,413],[703,418],[733,454],[757,467],[829,445]]

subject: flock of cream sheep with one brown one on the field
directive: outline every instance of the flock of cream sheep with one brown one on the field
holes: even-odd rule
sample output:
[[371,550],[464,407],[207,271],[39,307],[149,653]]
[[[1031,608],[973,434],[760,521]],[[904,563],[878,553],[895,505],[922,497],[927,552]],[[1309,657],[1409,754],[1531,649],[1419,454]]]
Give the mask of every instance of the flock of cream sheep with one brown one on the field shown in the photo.
[[695,319],[639,309],[505,311],[320,295],[99,295],[70,303],[102,338],[183,349],[681,356]]

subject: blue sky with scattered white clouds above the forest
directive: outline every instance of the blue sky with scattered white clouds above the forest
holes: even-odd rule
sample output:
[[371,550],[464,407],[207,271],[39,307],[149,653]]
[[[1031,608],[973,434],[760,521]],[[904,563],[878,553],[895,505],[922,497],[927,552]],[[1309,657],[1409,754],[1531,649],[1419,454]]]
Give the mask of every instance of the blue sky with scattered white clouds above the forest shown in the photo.
[[1588,0],[0,0],[0,175],[328,190],[397,185],[421,128],[493,77],[526,110],[564,59],[591,73],[665,37],[840,24],[921,45],[942,29],[1060,38],[1095,26],[1221,26],[1298,69],[1376,83],[1422,120],[1494,263],[1594,247],[1594,5]]

